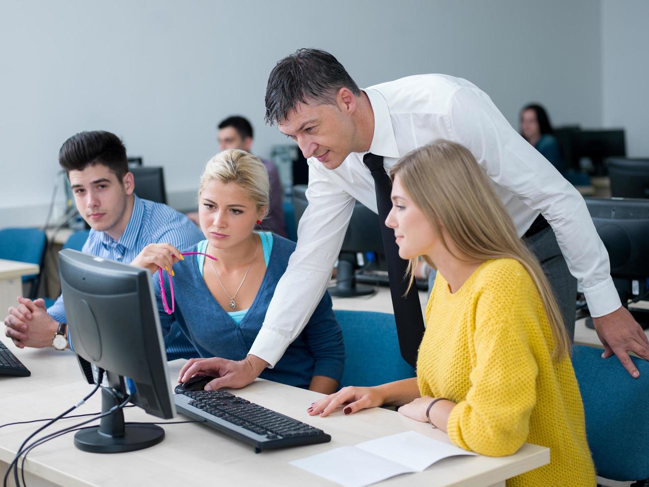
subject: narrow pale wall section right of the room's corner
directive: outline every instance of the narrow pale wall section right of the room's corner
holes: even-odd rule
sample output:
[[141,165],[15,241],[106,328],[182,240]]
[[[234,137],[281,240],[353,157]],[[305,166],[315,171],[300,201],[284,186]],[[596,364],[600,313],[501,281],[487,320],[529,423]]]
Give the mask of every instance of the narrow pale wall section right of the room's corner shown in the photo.
[[606,127],[626,129],[626,151],[649,157],[649,2],[602,1],[602,105]]

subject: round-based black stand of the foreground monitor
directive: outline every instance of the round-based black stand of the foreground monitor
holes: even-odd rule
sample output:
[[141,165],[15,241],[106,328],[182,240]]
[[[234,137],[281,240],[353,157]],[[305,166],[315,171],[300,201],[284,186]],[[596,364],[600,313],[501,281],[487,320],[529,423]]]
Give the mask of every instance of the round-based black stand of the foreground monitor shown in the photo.
[[[123,403],[124,380],[110,372],[110,387],[101,389],[101,413]],[[101,418],[99,426],[84,428],[75,434],[75,446],[91,453],[121,453],[141,450],[162,442],[164,429],[156,425],[126,425],[122,408]]]

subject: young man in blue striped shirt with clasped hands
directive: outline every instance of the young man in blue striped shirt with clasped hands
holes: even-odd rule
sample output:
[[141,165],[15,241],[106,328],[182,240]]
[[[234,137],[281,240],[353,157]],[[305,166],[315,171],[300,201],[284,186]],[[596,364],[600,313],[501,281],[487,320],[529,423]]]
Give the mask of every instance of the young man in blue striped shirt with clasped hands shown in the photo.
[[[126,148],[115,134],[80,132],[66,140],[58,158],[77,210],[91,227],[82,252],[151,268],[152,249],[153,253],[164,249],[149,245],[165,242],[186,249],[202,240],[200,229],[186,216],[134,194]],[[18,303],[5,318],[5,334],[17,347],[51,347],[56,334],[67,335],[62,296],[47,310],[42,299],[19,297]],[[167,336],[165,347],[169,360],[198,356],[180,329]]]

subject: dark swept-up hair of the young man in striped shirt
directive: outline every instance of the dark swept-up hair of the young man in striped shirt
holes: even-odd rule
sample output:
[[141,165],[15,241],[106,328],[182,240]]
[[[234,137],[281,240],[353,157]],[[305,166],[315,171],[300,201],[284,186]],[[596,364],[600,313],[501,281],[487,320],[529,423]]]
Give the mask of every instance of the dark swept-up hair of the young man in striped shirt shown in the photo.
[[126,147],[119,137],[105,131],[79,132],[71,136],[58,151],[58,163],[68,174],[102,164],[117,176],[120,183],[129,172]]

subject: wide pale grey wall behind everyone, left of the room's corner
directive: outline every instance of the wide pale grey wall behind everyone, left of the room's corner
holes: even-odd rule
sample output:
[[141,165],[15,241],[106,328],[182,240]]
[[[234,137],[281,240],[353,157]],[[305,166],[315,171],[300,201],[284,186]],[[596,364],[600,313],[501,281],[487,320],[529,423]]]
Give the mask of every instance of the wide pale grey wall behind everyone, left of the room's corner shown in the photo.
[[360,86],[447,73],[511,123],[539,101],[556,125],[600,125],[601,25],[592,0],[3,0],[0,227],[43,223],[79,131],[119,134],[172,194],[197,188],[227,115],[250,118],[268,155],[288,141],[263,125],[265,83],[299,47],[330,51]]

